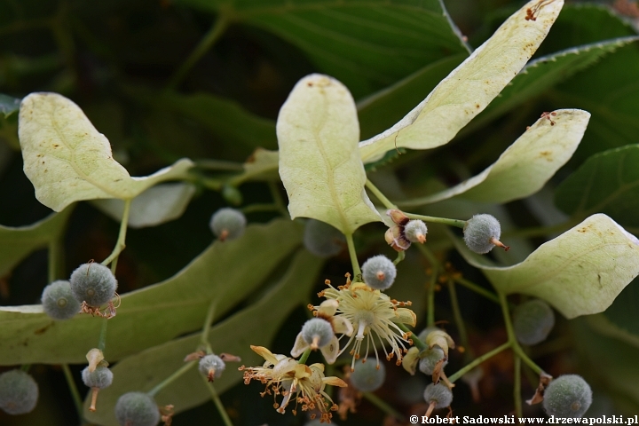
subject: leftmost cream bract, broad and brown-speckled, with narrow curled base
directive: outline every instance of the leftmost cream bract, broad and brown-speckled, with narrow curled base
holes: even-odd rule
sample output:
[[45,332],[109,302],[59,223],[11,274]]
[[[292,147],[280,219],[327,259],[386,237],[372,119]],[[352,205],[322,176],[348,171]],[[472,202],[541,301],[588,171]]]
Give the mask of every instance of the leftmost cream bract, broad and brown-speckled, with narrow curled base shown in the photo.
[[56,93],[22,99],[19,136],[36,198],[56,211],[74,201],[134,198],[155,184],[183,177],[193,164],[183,159],[153,175],[130,177],[82,109]]

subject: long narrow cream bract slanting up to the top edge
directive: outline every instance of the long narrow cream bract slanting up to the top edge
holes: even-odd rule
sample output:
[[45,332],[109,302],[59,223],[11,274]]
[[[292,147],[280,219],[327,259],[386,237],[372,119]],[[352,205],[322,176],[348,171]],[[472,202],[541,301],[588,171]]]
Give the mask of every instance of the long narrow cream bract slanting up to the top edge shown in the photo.
[[564,4],[542,6],[526,20],[532,0],[448,75],[430,95],[389,130],[360,143],[362,160],[373,162],[396,146],[428,149],[449,142],[517,75],[548,34]]

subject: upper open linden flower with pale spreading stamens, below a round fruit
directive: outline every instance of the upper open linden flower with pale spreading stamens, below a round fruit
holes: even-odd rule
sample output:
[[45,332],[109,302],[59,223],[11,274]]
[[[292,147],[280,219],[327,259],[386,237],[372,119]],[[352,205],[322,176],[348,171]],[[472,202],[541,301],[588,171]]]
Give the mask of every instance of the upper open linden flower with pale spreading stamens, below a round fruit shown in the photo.
[[[348,275],[347,275],[348,277]],[[368,287],[363,282],[356,282],[351,285],[351,280],[347,278],[345,286],[334,288],[330,281],[326,281],[326,290],[321,291],[318,296],[326,297],[327,300],[337,301],[336,318],[343,318],[352,324],[356,334],[350,335],[349,341],[343,346],[340,354],[348,348],[353,340],[355,344],[349,352],[352,356],[351,371],[355,371],[355,360],[359,359],[359,351],[364,339],[367,339],[367,350],[365,359],[368,356],[370,346],[375,349],[375,359],[379,366],[379,356],[375,348],[373,335],[382,343],[382,348],[386,354],[386,359],[390,360],[397,355],[397,365],[401,364],[403,354],[406,353],[407,346],[412,344],[408,336],[404,334],[398,324],[408,324],[415,326],[417,318],[413,311],[398,306],[409,306],[410,302],[398,302],[391,300],[379,290]],[[320,308],[316,307],[315,309]],[[343,335],[342,335],[343,337]],[[340,337],[340,339],[342,338]],[[386,343],[390,344],[390,351],[386,350]]]

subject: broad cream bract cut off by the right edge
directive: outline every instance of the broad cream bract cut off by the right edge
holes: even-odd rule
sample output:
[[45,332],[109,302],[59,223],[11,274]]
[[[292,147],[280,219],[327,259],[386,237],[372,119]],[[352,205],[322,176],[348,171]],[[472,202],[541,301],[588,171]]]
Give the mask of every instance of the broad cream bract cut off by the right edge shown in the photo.
[[539,297],[566,318],[603,312],[639,274],[639,240],[603,214],[588,217],[508,267],[494,266],[456,239],[455,245],[498,291]]

